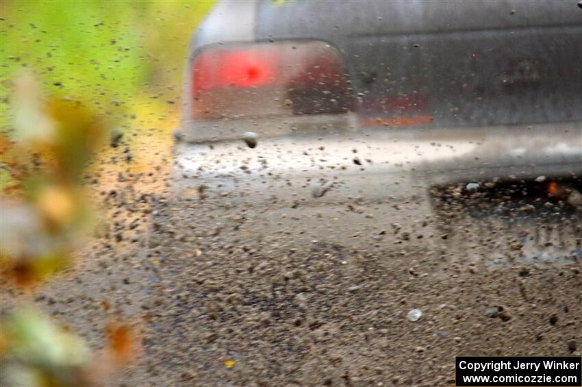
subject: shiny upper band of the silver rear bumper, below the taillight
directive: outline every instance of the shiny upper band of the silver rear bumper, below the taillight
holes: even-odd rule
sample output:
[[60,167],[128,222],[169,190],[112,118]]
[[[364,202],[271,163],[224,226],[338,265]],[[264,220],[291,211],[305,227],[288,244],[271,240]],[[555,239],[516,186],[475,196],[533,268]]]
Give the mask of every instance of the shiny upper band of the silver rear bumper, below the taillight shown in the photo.
[[[183,181],[177,186],[203,182],[209,190],[242,195],[242,184],[244,196],[257,202],[277,195],[322,203],[412,197],[422,195],[422,188],[458,182],[582,176],[582,123],[358,131],[340,126],[337,134],[329,125],[292,136],[258,132],[255,149],[240,140],[249,127],[233,128],[239,140],[175,146],[175,177]],[[333,187],[314,199],[310,186],[316,182]]]

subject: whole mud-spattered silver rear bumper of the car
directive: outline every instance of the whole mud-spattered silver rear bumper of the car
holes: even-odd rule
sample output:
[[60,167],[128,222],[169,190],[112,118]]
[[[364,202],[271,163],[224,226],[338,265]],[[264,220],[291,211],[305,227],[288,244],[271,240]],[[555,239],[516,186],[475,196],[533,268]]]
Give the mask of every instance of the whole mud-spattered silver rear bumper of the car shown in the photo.
[[568,123],[259,137],[253,149],[242,140],[179,142],[172,192],[194,208],[211,209],[209,224],[243,241],[391,247],[401,242],[392,225],[411,236],[443,234],[440,221],[422,223],[438,214],[433,186],[582,175],[581,138],[581,124]]

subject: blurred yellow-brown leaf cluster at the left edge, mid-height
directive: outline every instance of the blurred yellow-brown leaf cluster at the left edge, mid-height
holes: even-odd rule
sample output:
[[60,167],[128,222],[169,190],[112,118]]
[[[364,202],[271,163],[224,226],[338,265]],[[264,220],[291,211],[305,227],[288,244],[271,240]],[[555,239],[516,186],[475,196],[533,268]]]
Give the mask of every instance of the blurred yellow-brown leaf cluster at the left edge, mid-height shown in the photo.
[[16,284],[29,285],[66,266],[90,227],[81,174],[105,127],[79,102],[41,101],[29,73],[14,84],[10,173],[19,187],[1,203],[0,269]]

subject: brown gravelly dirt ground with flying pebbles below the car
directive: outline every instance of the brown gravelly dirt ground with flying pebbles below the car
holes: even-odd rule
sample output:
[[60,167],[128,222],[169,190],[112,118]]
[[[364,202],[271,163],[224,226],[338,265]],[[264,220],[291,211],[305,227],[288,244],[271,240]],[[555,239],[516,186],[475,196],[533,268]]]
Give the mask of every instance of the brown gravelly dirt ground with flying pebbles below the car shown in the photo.
[[35,298],[94,349],[136,324],[142,356],[107,386],[454,386],[457,355],[581,354],[579,260],[492,265],[454,232],[306,242],[221,197],[133,187],[99,194],[109,221]]

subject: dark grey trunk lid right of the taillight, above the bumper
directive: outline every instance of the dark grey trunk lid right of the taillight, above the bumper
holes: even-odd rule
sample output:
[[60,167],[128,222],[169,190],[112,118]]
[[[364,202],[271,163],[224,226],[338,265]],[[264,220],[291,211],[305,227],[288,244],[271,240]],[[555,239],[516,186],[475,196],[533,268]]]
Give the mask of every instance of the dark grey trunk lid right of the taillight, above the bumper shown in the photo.
[[572,1],[262,1],[257,40],[316,37],[337,47],[362,123],[582,121],[577,11]]

